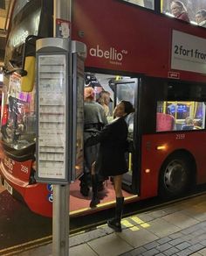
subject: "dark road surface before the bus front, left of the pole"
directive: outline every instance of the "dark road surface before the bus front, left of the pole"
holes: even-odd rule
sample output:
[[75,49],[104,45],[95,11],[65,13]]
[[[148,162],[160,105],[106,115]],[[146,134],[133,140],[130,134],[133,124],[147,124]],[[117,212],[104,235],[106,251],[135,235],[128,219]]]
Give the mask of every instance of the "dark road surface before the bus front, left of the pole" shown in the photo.
[[0,185],[1,250],[52,235],[52,218],[38,216]]

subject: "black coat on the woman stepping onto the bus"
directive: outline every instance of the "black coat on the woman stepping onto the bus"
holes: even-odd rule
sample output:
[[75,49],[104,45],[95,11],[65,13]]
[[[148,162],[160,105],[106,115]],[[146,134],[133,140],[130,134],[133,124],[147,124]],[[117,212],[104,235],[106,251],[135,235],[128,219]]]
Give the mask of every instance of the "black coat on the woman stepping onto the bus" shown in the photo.
[[105,177],[127,173],[127,133],[127,123],[124,117],[120,117],[86,139],[86,146],[100,143],[95,165],[97,173]]

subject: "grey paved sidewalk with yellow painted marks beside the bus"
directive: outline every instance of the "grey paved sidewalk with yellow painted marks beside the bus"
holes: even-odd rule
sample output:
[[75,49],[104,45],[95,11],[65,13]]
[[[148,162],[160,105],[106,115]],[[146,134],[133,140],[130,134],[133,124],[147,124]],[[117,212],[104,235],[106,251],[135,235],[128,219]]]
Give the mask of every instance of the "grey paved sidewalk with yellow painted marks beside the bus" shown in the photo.
[[[121,233],[102,225],[72,235],[69,255],[206,256],[206,195],[124,218],[122,226]],[[52,245],[15,255],[51,256]]]

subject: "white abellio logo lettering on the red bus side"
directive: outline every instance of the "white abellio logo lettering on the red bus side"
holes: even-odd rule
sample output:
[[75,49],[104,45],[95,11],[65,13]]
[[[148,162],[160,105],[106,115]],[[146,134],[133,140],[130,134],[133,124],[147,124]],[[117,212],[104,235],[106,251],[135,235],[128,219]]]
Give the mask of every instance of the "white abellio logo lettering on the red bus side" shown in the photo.
[[123,54],[127,54],[127,51],[122,50],[121,52],[119,52],[114,47],[110,47],[108,50],[104,51],[100,48],[99,45],[97,45],[96,47],[90,48],[89,54],[93,57],[105,58],[108,60],[120,62],[121,60],[123,60]]

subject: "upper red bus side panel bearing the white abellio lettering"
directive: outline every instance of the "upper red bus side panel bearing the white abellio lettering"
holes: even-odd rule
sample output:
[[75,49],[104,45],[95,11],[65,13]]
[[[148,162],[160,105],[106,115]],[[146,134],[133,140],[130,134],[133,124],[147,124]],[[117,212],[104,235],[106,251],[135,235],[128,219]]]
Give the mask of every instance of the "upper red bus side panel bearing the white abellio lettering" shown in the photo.
[[206,82],[205,75],[170,67],[172,31],[205,38],[202,28],[119,1],[75,0],[73,10],[72,39],[86,44],[86,67],[162,78],[175,71],[178,79]]

